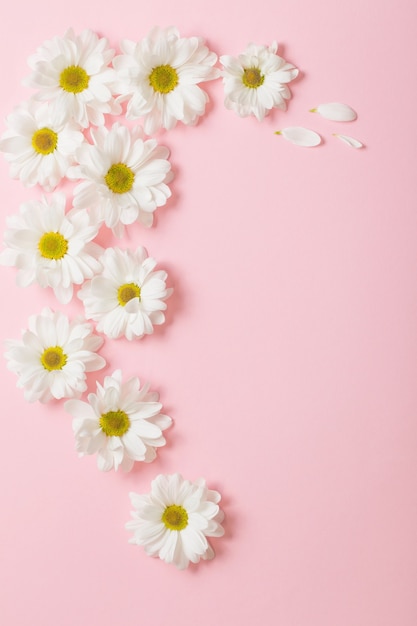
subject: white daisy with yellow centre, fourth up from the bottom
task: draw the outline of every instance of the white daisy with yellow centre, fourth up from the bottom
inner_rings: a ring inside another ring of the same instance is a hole
[[[103,270],[78,292],[85,315],[97,322],[97,330],[111,339],[139,339],[163,324],[167,273],[153,271],[156,261],[139,246],[136,251],[108,248],[100,257]]]

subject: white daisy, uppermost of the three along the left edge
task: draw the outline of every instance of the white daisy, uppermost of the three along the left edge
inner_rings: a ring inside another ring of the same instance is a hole
[[[20,104],[6,118],[9,129],[0,139],[0,150],[10,162],[10,176],[26,187],[39,183],[52,191],[74,163],[75,151],[84,135],[73,123],[66,123],[59,111],[47,103]]]

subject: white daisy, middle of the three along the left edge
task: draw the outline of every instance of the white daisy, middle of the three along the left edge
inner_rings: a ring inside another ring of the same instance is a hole
[[[90,223],[86,210],[65,214],[65,202],[65,195],[56,193],[49,201],[22,204],[19,215],[7,218],[6,249],[0,255],[1,264],[17,267],[20,287],[35,282],[52,287],[63,304],[71,300],[73,285],[101,270],[97,259],[103,253],[92,242],[99,225]]]

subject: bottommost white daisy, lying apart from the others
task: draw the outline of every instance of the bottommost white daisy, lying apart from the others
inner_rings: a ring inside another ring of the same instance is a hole
[[[150,494],[131,493],[130,499],[135,510],[126,524],[133,531],[129,543],[144,546],[148,555],[178,569],[214,557],[207,537],[224,535],[224,515],[220,494],[208,489],[204,479],[192,483],[180,474],[160,474]]]

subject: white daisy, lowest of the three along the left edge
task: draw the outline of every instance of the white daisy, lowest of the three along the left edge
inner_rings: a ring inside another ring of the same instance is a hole
[[[79,397],[86,390],[86,372],[103,368],[96,352],[103,339],[81,318],[69,320],[60,311],[44,309],[29,318],[21,341],[6,342],[9,370],[29,402]]]

